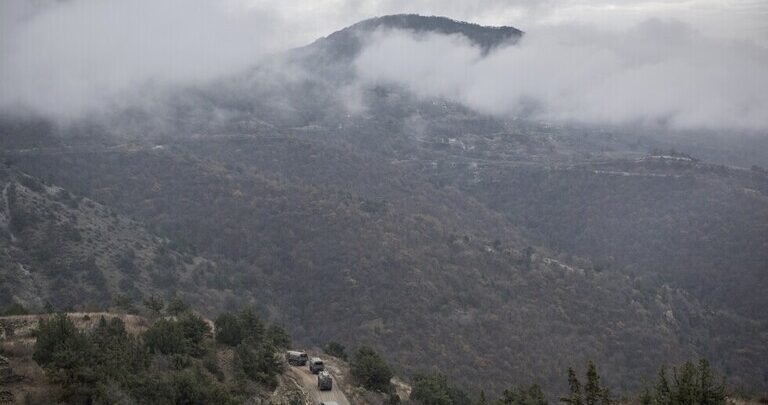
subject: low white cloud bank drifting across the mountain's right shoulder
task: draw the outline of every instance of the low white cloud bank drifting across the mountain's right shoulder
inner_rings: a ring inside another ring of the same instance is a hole
[[[623,32],[528,32],[483,56],[461,35],[379,32],[356,60],[366,84],[504,116],[673,128],[768,129],[768,50],[709,39],[678,22]]]

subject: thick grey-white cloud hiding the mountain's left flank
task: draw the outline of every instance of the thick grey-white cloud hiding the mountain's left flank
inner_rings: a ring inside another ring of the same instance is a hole
[[[0,108],[59,119],[236,73],[290,36],[235,0],[3,0],[0,12]]]

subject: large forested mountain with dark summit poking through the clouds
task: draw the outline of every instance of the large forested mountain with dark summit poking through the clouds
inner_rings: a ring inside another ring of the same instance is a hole
[[[299,344],[366,343],[404,375],[440,370],[496,392],[538,381],[556,397],[588,359],[631,392],[697,356],[733,384],[768,387],[764,173],[403,88],[363,88],[350,111],[340,89],[380,27],[465,35],[488,52],[521,35],[366,20],[152,110],[31,145],[4,135],[6,212],[32,219],[7,221],[2,296],[179,295],[211,316],[253,305]],[[37,132],[14,125],[0,128]]]

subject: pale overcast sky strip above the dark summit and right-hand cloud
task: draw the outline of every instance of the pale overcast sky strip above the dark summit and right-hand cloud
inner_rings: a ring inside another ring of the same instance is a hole
[[[719,38],[768,45],[766,0],[239,0],[246,7],[272,8],[297,27],[292,41],[306,42],[376,15],[442,15],[484,25],[584,24],[622,29],[649,18],[676,19]],[[299,28],[299,26],[301,28]]]

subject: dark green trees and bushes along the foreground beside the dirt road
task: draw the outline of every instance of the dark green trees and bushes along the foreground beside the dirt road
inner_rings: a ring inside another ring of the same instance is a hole
[[[159,310],[162,305],[146,303]],[[290,334],[279,324],[266,324],[252,309],[225,312],[208,322],[180,302],[171,316],[158,317],[145,331],[132,334],[120,317],[101,317],[91,330],[80,330],[70,316],[53,314],[39,321],[33,359],[59,387],[66,403],[235,404],[259,390],[274,390],[284,365],[280,352],[291,346]],[[231,379],[224,377],[217,348],[232,350]],[[435,372],[411,379],[409,398],[400,398],[392,385],[394,373],[383,356],[369,346],[351,356],[338,342],[329,342],[328,355],[348,360],[355,384],[385,394],[388,404],[423,405],[547,405],[538,384],[517,385],[495,399],[484,391],[470,395],[460,384]],[[559,399],[566,405],[611,405],[617,402],[594,362],[584,378],[568,368],[569,391]],[[671,370],[662,367],[656,382],[636,398],[641,405],[724,405],[727,388],[706,360],[687,362]]]

